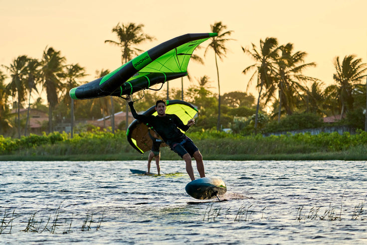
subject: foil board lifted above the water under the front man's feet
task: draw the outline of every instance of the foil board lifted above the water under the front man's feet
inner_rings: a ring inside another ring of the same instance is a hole
[[[186,193],[199,200],[218,198],[227,191],[227,187],[221,179],[200,178],[189,182],[185,187]],[[220,200],[218,198],[218,200]]]

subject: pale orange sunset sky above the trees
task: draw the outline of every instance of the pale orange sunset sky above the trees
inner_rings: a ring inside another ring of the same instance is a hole
[[[356,54],[367,62],[366,0],[0,0],[0,65],[23,54],[40,59],[48,46],[60,50],[68,64],[85,67],[90,74],[85,80],[91,81],[96,70],[121,66],[120,49],[104,43],[118,40],[111,30],[119,22],[144,24],[144,32],[156,37],[139,46],[148,50],[185,33],[210,32],[210,24],[217,21],[233,30],[230,37],[235,39],[227,43],[229,52],[218,63],[221,94],[245,91],[249,76],[242,70],[254,61],[241,46],[259,46],[266,37],[307,52],[306,62],[316,62],[317,67],[304,74],[326,85],[333,83],[336,56]],[[203,49],[194,53],[203,57]],[[211,50],[204,62],[191,62],[188,72],[197,79],[209,76],[217,92]],[[180,81],[170,82],[170,87],[179,88]],[[249,92],[257,96],[254,86]]]

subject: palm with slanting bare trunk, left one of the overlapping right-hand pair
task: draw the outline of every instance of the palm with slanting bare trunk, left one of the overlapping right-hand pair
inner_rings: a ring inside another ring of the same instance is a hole
[[[260,39],[259,50],[257,50],[256,45],[253,43],[251,50],[243,47],[242,50],[244,53],[247,53],[250,56],[252,56],[252,58],[256,61],[256,63],[246,67],[242,71],[243,74],[247,74],[247,72],[255,68],[255,71],[251,75],[250,80],[247,84],[246,91],[251,81],[256,77],[257,78],[256,87],[259,89],[259,96],[257,98],[257,104],[256,104],[255,125],[254,125],[256,132],[262,89],[264,87],[270,88],[274,80],[272,77],[272,73],[275,65],[274,60],[276,60],[278,57],[278,51],[279,51],[278,40],[274,37],[267,37],[265,38],[265,41]]]

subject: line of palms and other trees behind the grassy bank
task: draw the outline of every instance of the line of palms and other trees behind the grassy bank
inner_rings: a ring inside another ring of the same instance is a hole
[[[138,48],[139,44],[155,39],[144,33],[143,27],[143,24],[118,23],[112,29],[118,41],[105,40],[105,43],[121,49],[122,64],[143,52]],[[254,60],[242,73],[250,74],[247,87],[255,83],[257,98],[248,94],[247,90],[221,94],[218,60],[225,62],[227,43],[233,40],[229,37],[234,31],[227,30],[222,22],[210,25],[210,31],[218,35],[209,39],[204,57],[208,51],[214,52],[218,93],[210,91],[213,81],[208,75],[203,74],[192,81],[188,74],[192,82],[185,90],[181,80],[181,89],[170,89],[167,82],[166,92],[146,90],[137,93],[137,97],[142,98],[137,102],[137,108],[146,110],[155,104],[155,100],[163,97],[183,99],[198,107],[197,129],[215,128],[219,131],[230,127],[247,133],[259,132],[272,121],[281,124],[282,118],[293,114],[309,113],[318,117],[341,115],[343,118],[348,113],[359,115],[366,108],[366,84],[363,82],[367,77],[367,64],[361,58],[354,54],[345,56],[343,60],[336,57],[333,63],[335,83],[325,87],[318,78],[304,75],[306,69],[316,66],[315,62],[305,62],[307,53],[294,50],[293,43],[279,44],[275,37],[260,39],[259,45],[251,43],[251,48],[242,47],[244,55]],[[193,55],[191,59],[204,63],[203,57],[198,55]],[[97,70],[95,76],[99,78],[109,72],[108,69]],[[29,116],[21,120],[21,108],[27,108],[28,115],[30,108],[47,112],[49,120],[45,130],[48,132],[52,132],[55,122],[73,122],[74,118],[76,121],[105,118],[124,109],[128,111],[125,101],[112,96],[74,102],[68,92],[85,83],[83,79],[87,75],[85,67],[78,63],[68,64],[61,51],[53,47],[46,47],[40,60],[20,55],[9,65],[1,65],[0,134],[19,138],[23,133],[27,134]],[[10,82],[5,83],[7,78]],[[38,96],[33,103],[32,94]],[[42,97],[44,94],[46,98]],[[15,117],[10,113],[11,109],[16,109]],[[115,126],[125,130],[128,118],[124,125],[112,125],[112,131]]]

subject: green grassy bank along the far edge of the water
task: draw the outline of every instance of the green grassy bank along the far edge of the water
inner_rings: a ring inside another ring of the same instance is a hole
[[[367,160],[367,133],[297,134],[262,137],[223,132],[193,132],[204,160]],[[180,160],[168,147],[162,160]],[[53,133],[21,139],[0,136],[0,161],[146,160],[126,140],[125,132]]]

